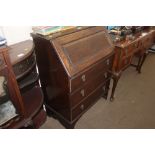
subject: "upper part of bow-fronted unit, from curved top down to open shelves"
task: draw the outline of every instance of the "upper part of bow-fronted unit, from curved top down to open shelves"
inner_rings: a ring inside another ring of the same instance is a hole
[[[9,56],[21,92],[39,85],[32,40],[26,40],[9,46]]]

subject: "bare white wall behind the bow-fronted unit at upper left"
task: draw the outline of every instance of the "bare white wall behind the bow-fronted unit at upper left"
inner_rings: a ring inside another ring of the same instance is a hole
[[[7,39],[7,44],[11,45],[27,39],[32,39],[30,33],[31,26],[1,26],[0,35]]]

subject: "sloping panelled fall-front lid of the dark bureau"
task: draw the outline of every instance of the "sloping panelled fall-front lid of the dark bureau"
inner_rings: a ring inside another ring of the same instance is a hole
[[[87,27],[51,41],[68,75],[74,76],[113,53],[113,43],[104,27]]]

